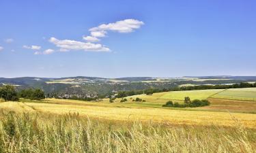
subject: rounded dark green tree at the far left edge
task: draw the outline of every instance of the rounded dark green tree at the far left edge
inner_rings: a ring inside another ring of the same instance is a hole
[[[18,95],[14,86],[3,86],[0,88],[0,97],[5,101],[18,101]]]

